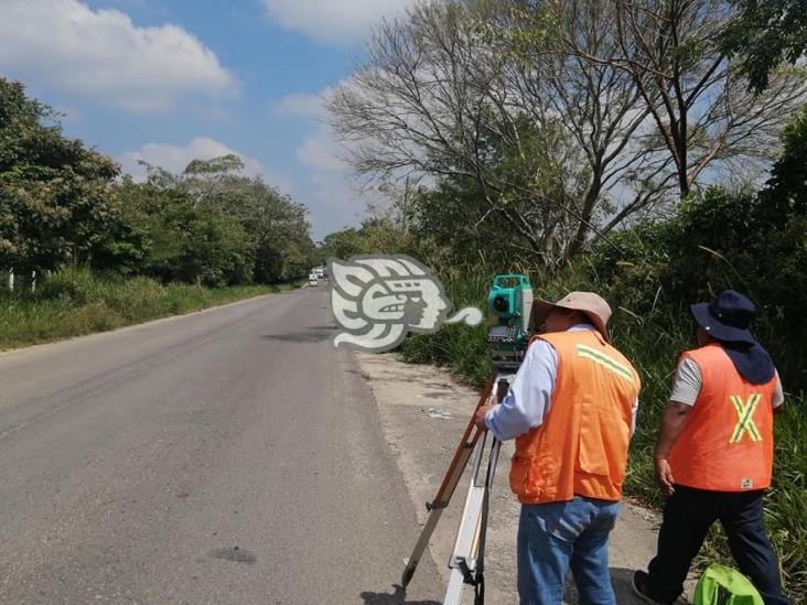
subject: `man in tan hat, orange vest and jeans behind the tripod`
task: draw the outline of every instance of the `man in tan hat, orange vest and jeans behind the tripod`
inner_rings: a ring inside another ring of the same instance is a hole
[[[580,602],[615,604],[607,542],[618,514],[639,379],[610,344],[611,307],[592,292],[536,301],[541,326],[499,406],[480,428],[516,439],[510,488],[521,503],[518,594],[557,605],[569,569]]]

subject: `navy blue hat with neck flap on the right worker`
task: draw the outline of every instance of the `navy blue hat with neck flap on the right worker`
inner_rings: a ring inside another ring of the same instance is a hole
[[[753,385],[764,385],[774,377],[771,355],[751,334],[749,326],[756,307],[746,296],[725,290],[709,303],[690,306],[695,321],[709,336],[719,341],[740,375]]]

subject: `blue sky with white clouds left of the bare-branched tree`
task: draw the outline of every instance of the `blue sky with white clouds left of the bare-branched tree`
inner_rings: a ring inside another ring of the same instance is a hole
[[[316,239],[366,199],[323,122],[321,95],[411,0],[2,0],[0,74],[62,111],[66,134],[141,177],[241,155],[310,209]]]

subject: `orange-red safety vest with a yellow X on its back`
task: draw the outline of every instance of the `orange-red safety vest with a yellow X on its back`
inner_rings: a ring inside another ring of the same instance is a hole
[[[715,491],[771,487],[776,376],[752,385],[718,343],[689,350],[700,368],[700,393],[670,452],[675,482]]]

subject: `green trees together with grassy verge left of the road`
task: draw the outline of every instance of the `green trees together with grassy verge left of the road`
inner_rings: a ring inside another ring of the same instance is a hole
[[[136,182],[57,118],[0,78],[0,348],[279,291],[319,259],[305,207],[239,158]]]

